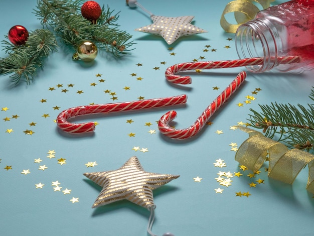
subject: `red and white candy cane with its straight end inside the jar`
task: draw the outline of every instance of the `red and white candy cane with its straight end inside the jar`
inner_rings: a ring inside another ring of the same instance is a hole
[[[278,62],[280,64],[289,64],[299,62],[299,57],[279,57]],[[204,61],[204,62],[187,62],[180,63],[169,67],[166,72],[166,79],[169,82],[177,84],[190,84],[192,79],[190,76],[176,75],[180,71],[187,70],[197,70],[197,69],[217,69],[217,68],[232,68],[241,66],[252,66],[252,65],[262,65],[264,63],[264,58],[246,58],[238,60],[228,60],[228,61]]]

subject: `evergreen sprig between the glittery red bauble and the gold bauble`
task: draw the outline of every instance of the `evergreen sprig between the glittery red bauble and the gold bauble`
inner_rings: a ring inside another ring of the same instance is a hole
[[[111,52],[114,56],[129,53],[134,44],[125,31],[116,24],[119,16],[109,7],[102,7],[96,24],[86,20],[81,14],[85,0],[38,0],[34,13],[46,28],[52,28],[62,41],[76,50],[81,40],[89,40],[100,50]]]

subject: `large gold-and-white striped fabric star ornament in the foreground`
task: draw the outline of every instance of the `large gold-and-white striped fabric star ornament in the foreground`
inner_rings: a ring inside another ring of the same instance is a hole
[[[179,175],[146,172],[135,156],[117,170],[84,173],[84,175],[103,187],[92,208],[126,199],[150,209],[155,207],[152,190],[179,177]]]

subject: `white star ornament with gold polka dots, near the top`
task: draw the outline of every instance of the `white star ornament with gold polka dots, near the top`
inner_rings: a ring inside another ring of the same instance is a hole
[[[162,36],[170,45],[182,36],[207,33],[207,31],[191,24],[194,16],[163,17],[152,15],[153,23],[135,31]]]

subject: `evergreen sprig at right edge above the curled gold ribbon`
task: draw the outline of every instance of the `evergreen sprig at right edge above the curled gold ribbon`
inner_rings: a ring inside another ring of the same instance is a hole
[[[314,100],[314,90],[309,95]],[[261,112],[252,111],[251,126],[263,129],[265,136],[282,141],[290,148],[314,152],[314,105],[297,104],[259,105]]]

